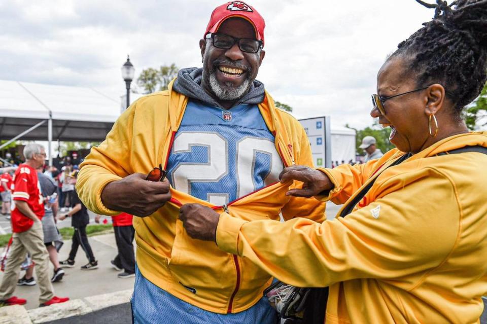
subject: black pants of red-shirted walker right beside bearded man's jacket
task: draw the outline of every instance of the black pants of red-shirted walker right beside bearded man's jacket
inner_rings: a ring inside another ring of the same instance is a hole
[[[118,248],[118,254],[113,262],[126,272],[135,273],[135,256],[132,245],[135,230],[133,226],[114,226],[113,230]]]

